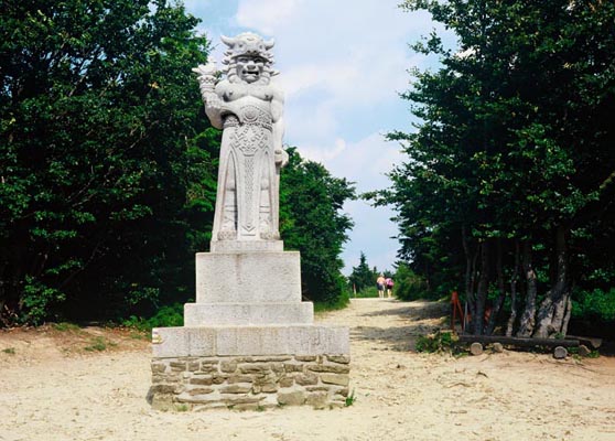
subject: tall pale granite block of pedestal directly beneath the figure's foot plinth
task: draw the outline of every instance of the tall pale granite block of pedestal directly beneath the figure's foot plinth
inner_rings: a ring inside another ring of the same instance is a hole
[[[196,303],[300,301],[298,251],[196,255]]]

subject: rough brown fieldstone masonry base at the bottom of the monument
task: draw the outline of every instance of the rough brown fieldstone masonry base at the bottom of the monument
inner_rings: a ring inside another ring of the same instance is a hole
[[[343,407],[348,355],[154,357],[149,399],[161,410]]]

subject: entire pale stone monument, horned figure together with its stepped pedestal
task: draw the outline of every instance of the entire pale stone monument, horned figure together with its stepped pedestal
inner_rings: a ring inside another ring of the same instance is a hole
[[[270,84],[273,41],[242,33],[223,42],[226,77],[214,63],[194,69],[207,116],[224,130],[212,247],[195,256],[195,302],[184,304],[183,326],[152,330],[148,396],[158,409],[343,407],[348,327],[314,324],[300,252],[280,240],[288,154],[282,94]]]

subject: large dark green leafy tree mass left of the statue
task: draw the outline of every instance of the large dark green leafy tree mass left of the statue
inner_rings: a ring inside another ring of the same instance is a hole
[[[207,229],[191,223],[207,222],[215,182],[191,76],[207,53],[197,20],[165,0],[0,8],[3,320],[188,292],[190,240]]]

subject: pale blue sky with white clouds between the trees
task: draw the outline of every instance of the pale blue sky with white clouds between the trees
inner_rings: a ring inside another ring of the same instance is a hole
[[[412,131],[408,69],[429,61],[408,44],[435,26],[424,12],[408,13],[400,0],[185,0],[202,20],[199,32],[223,60],[220,35],[256,32],[273,37],[276,82],[285,93],[284,143],[322,163],[334,176],[354,182],[358,193],[389,186],[386,176],[403,161],[400,146],[385,140],[392,130]],[[344,209],[355,227],[342,258],[344,273],[359,262],[393,269],[399,244],[388,207],[364,201]]]

